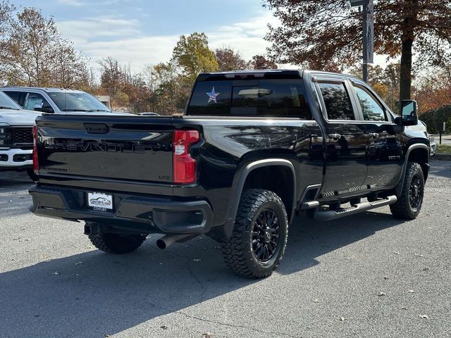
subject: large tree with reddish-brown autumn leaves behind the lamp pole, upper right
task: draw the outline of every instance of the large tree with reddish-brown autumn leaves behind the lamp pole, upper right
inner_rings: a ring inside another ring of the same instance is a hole
[[[362,58],[362,13],[349,0],[265,0],[279,27],[266,35],[280,63],[327,69],[354,65]],[[379,0],[374,8],[375,51],[401,56],[400,99],[409,99],[412,55],[419,67],[438,67],[451,58],[451,2]]]

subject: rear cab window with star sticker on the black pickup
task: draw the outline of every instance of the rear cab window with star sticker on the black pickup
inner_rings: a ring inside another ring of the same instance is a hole
[[[301,79],[199,81],[187,115],[312,118]]]

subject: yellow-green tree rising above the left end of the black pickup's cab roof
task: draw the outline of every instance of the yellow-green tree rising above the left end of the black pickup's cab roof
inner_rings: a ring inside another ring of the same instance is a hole
[[[218,70],[218,61],[209,49],[208,38],[204,33],[180,36],[173,49],[172,61],[181,68],[183,80],[190,85],[199,73]]]

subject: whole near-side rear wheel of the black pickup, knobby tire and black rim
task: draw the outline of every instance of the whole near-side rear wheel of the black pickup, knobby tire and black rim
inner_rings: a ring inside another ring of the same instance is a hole
[[[253,278],[267,277],[278,267],[288,239],[288,217],[280,197],[269,190],[242,193],[232,236],[223,242],[230,270]]]

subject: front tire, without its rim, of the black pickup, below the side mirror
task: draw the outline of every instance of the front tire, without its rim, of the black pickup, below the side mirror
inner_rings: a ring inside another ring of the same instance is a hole
[[[410,202],[412,180],[418,178],[419,182],[419,205],[414,208]],[[390,211],[395,218],[401,220],[414,220],[421,211],[424,197],[424,175],[421,166],[415,162],[407,163],[406,173],[404,176],[404,184],[402,184],[402,192],[397,202],[390,204]]]

